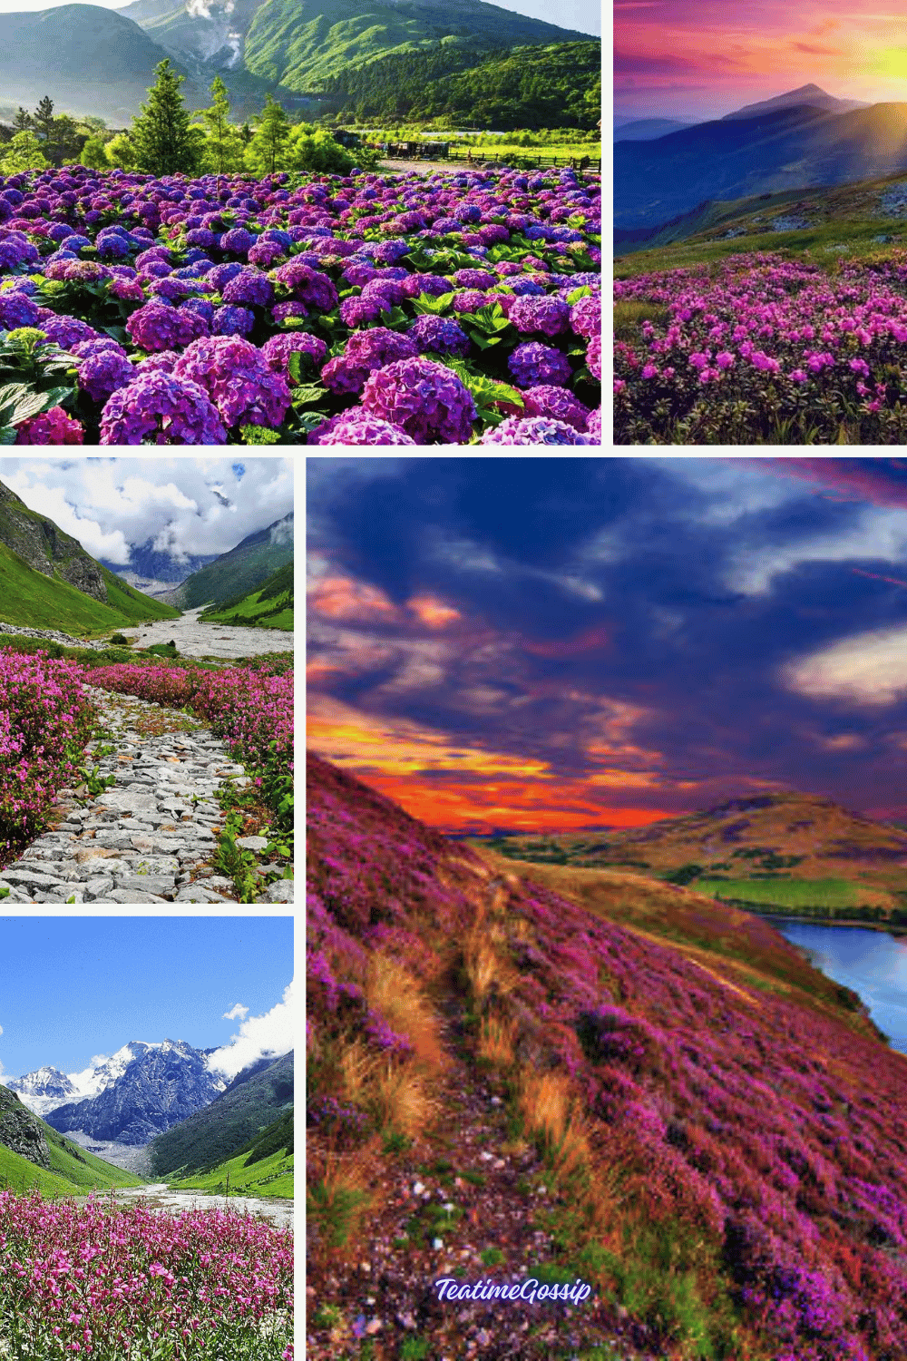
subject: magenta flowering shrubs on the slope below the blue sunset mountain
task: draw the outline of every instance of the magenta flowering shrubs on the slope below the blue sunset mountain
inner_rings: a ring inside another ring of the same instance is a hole
[[[615,284],[617,444],[904,444],[907,252]]]

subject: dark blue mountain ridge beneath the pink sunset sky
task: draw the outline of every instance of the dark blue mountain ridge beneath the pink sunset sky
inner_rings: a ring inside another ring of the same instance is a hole
[[[907,103],[843,108],[804,87],[649,142],[615,143],[615,226],[664,226],[708,200],[847,184],[907,167]],[[812,102],[817,101],[817,102]],[[753,112],[755,110],[755,112]],[[619,237],[620,240],[620,237]]]

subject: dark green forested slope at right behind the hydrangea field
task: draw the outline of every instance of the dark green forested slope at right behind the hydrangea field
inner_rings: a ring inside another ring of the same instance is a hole
[[[447,120],[451,127],[596,128],[601,45],[558,42],[499,52],[438,44],[324,79],[318,90],[359,124]]]

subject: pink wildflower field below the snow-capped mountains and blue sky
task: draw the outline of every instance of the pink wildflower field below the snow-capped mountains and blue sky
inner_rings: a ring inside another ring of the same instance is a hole
[[[0,1354],[10,1361],[291,1361],[292,1234],[0,1191]]]

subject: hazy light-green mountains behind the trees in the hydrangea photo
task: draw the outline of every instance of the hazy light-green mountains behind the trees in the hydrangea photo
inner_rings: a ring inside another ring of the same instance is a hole
[[[4,101],[50,95],[64,110],[128,122],[154,68],[170,57],[190,108],[220,73],[242,116],[272,91],[317,112],[317,82],[392,53],[438,42],[490,49],[587,38],[484,0],[133,0],[122,10],[65,4],[0,14]],[[307,94],[311,93],[311,97]]]

